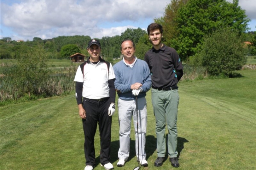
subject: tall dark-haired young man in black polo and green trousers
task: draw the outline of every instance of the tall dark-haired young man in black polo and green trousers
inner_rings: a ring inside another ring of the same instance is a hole
[[[177,114],[179,104],[178,81],[183,75],[183,66],[175,49],[161,40],[162,25],[152,23],[147,27],[153,48],[144,56],[152,79],[152,105],[156,117],[157,159],[155,166],[162,166],[165,157],[165,122],[168,129],[168,156],[173,167],[179,167],[177,152]]]

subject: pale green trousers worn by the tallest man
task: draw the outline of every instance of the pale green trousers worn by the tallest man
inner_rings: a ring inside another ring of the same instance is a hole
[[[177,115],[179,105],[179,92],[177,90],[151,89],[152,105],[156,118],[157,156],[165,157],[165,125],[168,129],[168,155],[170,158],[177,157]]]

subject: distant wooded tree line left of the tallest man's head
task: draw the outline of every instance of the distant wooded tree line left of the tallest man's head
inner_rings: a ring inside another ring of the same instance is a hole
[[[106,58],[117,58],[121,55],[121,41],[130,38],[134,43],[139,42],[139,38],[146,35],[146,31],[141,28],[126,29],[121,36],[102,37],[101,55]],[[19,51],[22,46],[42,47],[49,59],[68,59],[70,55],[82,53],[88,56],[87,44],[91,40],[90,36],[58,36],[47,40],[42,40],[40,37],[34,37],[33,41],[17,42],[12,41],[10,37],[4,37],[0,40],[0,59],[16,59],[16,51]]]

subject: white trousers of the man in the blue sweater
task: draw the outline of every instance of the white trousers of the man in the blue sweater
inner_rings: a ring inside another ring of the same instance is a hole
[[[138,130],[136,104],[134,100],[118,99],[118,119],[119,119],[119,141],[120,148],[118,158],[127,159],[130,153],[130,130],[133,117],[135,130],[135,150],[136,156],[140,160],[146,158],[145,143],[147,130],[147,102],[145,97],[138,98],[138,127],[139,127],[139,156],[138,156]]]

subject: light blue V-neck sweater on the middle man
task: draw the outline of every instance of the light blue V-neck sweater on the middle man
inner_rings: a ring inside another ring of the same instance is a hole
[[[138,98],[146,96],[146,92],[151,88],[152,81],[149,66],[144,60],[137,59],[132,68],[121,60],[113,68],[116,77],[115,89],[119,98],[123,100],[134,99],[135,96],[132,94],[131,89],[131,85],[134,83],[142,84],[142,91],[139,93]]]

